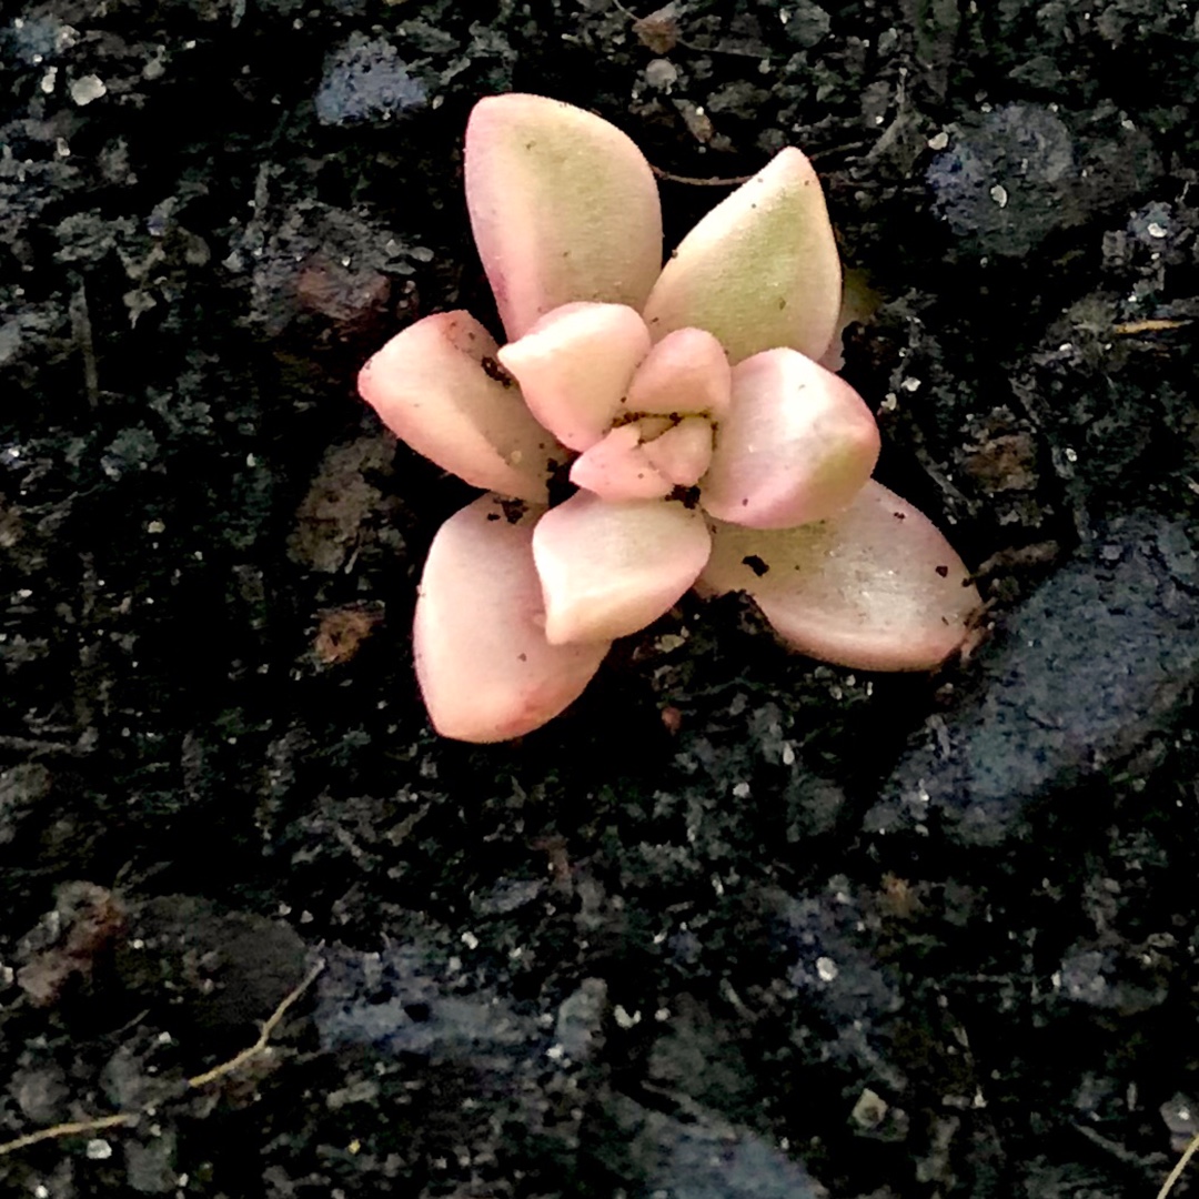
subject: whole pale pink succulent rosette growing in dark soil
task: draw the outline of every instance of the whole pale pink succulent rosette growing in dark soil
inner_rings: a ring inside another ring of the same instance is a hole
[[[874,417],[820,364],[842,277],[801,151],[664,266],[649,164],[582,109],[480,101],[465,182],[506,344],[438,313],[359,378],[399,438],[486,489],[441,526],[420,585],[416,673],[439,733],[538,728],[691,586],[748,592],[788,644],[844,665],[929,669],[962,644],[978,603],[965,567],[870,480]],[[574,490],[552,504],[564,476]]]

